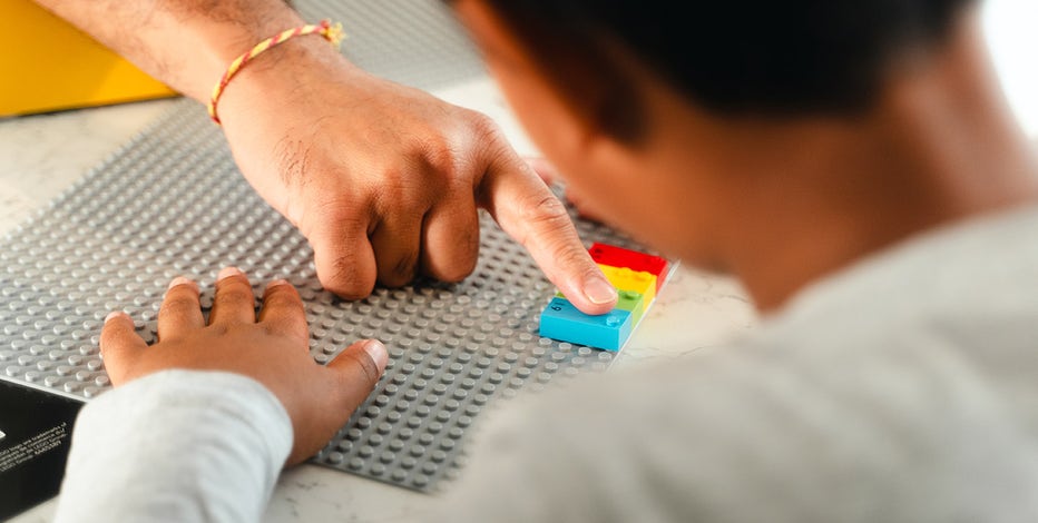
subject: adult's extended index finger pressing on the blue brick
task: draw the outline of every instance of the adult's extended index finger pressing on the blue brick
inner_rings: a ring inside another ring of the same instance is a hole
[[[498,158],[481,181],[481,205],[578,309],[611,310],[616,288],[580,243],[566,207],[518,155],[509,151]]]

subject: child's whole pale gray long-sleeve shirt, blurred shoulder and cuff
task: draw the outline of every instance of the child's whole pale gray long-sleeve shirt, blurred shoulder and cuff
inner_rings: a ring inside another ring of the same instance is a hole
[[[445,521],[1038,521],[1038,209],[911,238],[732,346],[488,423]],[[239,376],[106,393],[80,414],[59,520],[255,521],[288,427]]]

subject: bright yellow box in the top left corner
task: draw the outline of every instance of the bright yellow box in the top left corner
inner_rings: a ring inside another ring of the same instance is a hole
[[[176,95],[31,0],[0,13],[0,117]]]

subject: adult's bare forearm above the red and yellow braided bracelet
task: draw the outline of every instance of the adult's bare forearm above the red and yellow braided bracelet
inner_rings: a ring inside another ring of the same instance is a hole
[[[283,0],[37,2],[199,101],[208,99],[231,60],[261,40],[303,23]]]

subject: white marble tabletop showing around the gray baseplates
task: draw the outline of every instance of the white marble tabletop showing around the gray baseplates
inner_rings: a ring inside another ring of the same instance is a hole
[[[488,112],[505,127],[520,152],[536,152],[489,81],[437,95]],[[0,235],[68,188],[148,122],[170,100],[156,100],[55,115],[0,119]],[[734,282],[679,269],[633,335],[617,365],[675,357],[724,342],[752,328],[753,307]],[[265,521],[418,521],[433,497],[344,472],[301,465],[281,477]],[[51,500],[22,513],[18,523],[49,521]]]

